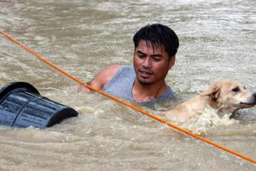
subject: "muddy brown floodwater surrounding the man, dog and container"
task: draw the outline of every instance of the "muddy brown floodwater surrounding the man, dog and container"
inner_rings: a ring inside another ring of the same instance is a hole
[[[180,38],[166,82],[176,99],[162,111],[232,79],[256,92],[255,0],[24,1],[0,0],[0,29],[84,82],[112,64],[132,65],[132,36],[146,24]],[[50,128],[0,126],[0,170],[256,170],[240,158],[100,93],[78,93],[73,79],[0,35],[0,86],[26,81],[79,116]],[[135,104],[134,104],[135,105]],[[173,122],[256,160],[256,108],[236,120],[212,111]]]

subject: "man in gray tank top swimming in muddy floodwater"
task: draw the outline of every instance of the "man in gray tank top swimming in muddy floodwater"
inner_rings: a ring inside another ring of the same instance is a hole
[[[166,85],[179,41],[175,32],[162,24],[142,27],[133,37],[133,67],[111,65],[87,83],[115,97],[122,97],[154,108],[157,101],[170,101],[174,92]],[[83,87],[80,92],[90,92]]]

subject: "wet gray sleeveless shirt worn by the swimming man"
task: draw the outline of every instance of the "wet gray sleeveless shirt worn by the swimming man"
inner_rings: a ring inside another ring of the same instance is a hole
[[[135,78],[136,74],[134,71],[134,67],[122,65],[122,67],[118,69],[115,76],[113,76],[113,78],[110,80],[108,85],[104,86],[102,91],[115,97],[121,97],[132,101],[136,101],[132,97],[132,86],[134,85]],[[148,100],[145,102],[136,102],[155,108],[155,102],[171,101],[173,100],[173,98],[174,92],[173,90],[171,90],[171,88],[169,88],[164,94],[160,95],[159,97],[153,100]]]

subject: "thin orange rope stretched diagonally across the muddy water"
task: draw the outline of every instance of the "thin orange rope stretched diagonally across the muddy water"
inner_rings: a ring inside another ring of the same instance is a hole
[[[127,102],[124,102],[116,97],[113,97],[107,93],[104,93],[102,92],[101,90],[97,90],[96,88],[90,86],[90,85],[87,85],[86,83],[83,83],[83,81],[80,81],[79,79],[73,77],[71,74],[68,74],[68,72],[65,72],[63,71],[62,69],[60,69],[59,67],[57,67],[56,65],[53,65],[52,63],[48,62],[48,60],[45,60],[45,58],[41,57],[40,55],[38,55],[38,53],[35,53],[34,51],[30,50],[29,48],[27,48],[26,46],[24,46],[23,44],[19,43],[18,41],[16,41],[15,39],[11,38],[10,36],[8,36],[8,34],[5,34],[3,31],[1,31],[1,34],[3,34],[4,36],[6,36],[8,39],[10,39],[11,41],[17,43],[19,46],[22,46],[22,48],[24,48],[25,50],[31,52],[33,55],[36,55],[36,57],[38,57],[39,59],[43,60],[43,62],[45,62],[46,64],[49,64],[51,65],[52,67],[54,67],[55,69],[57,69],[58,71],[62,72],[63,74],[66,74],[66,76],[69,76],[69,78],[75,80],[76,82],[80,83],[81,85],[84,85],[86,86],[87,88],[90,88],[90,90],[94,90],[95,92],[98,92],[98,93],[101,93],[102,95],[105,95],[106,97],[109,97],[110,99],[113,99],[117,102],[120,102],[121,104],[124,104],[125,106],[128,106],[128,107],[131,107],[132,109],[136,110],[136,111],[139,111],[140,113],[143,113],[143,114],[146,114],[147,116],[150,116],[151,118],[157,120],[157,121],[160,121],[162,123],[165,123],[166,125],[168,125],[169,127],[173,127],[175,128],[176,130],[180,130],[181,132],[183,133],[187,133],[188,135],[192,136],[192,137],[195,137],[196,139],[199,139],[199,140],[203,140],[204,142],[207,142],[208,144],[211,144],[215,147],[218,147],[224,151],[227,151],[231,154],[234,154],[236,156],[239,156],[245,160],[248,160],[248,161],[251,161],[252,163],[255,163],[256,164],[256,160],[253,160],[252,158],[248,158],[247,156],[244,156],[242,154],[239,154],[239,153],[236,153],[235,151],[232,151],[231,149],[227,149],[226,147],[222,147],[218,144],[216,144],[215,142],[211,142],[210,140],[207,140],[207,139],[204,139],[203,137],[200,137],[199,135],[196,135],[194,133],[191,133],[191,132],[188,132],[187,130],[184,130],[183,128],[180,128],[180,127],[177,127],[165,120],[162,120],[160,118],[158,118],[157,116],[154,116],[153,114],[150,114],[150,113],[147,113],[141,109],[139,109],[138,107],[135,107],[135,106],[132,106],[131,104],[128,104]]]

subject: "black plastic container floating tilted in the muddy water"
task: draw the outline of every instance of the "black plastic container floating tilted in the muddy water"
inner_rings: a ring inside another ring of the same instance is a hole
[[[46,128],[77,115],[75,109],[41,96],[26,82],[9,83],[0,90],[1,125]]]

